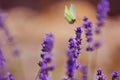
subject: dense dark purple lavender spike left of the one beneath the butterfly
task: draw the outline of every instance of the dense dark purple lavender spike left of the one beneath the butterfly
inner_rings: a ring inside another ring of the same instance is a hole
[[[68,51],[67,51],[67,79],[73,80],[75,76],[75,70],[76,70],[76,56],[77,53],[77,44],[76,40],[74,38],[69,39],[68,43]]]

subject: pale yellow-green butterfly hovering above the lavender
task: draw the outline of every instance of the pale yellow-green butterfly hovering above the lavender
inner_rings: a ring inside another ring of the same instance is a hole
[[[73,4],[71,4],[70,9],[65,5],[64,16],[69,24],[76,21],[76,8]]]

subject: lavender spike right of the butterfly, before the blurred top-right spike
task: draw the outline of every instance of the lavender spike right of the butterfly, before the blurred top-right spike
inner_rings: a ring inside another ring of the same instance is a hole
[[[86,41],[88,43],[88,46],[86,48],[87,51],[93,51],[94,50],[94,46],[93,46],[93,33],[92,33],[92,22],[88,21],[87,17],[84,17],[83,19],[84,24],[83,27],[85,29],[85,36],[86,36]]]

